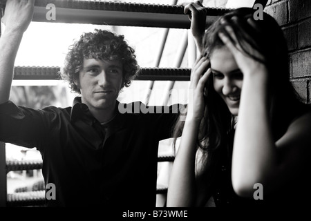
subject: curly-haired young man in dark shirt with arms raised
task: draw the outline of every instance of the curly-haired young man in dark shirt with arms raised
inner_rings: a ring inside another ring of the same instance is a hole
[[[158,141],[170,137],[178,106],[162,114],[120,113],[117,96],[139,70],[123,36],[95,30],[70,48],[62,77],[81,94],[72,107],[33,110],[9,101],[15,57],[34,2],[6,4],[0,140],[40,151],[44,180],[56,193],[46,206],[156,206]]]

